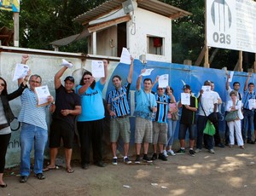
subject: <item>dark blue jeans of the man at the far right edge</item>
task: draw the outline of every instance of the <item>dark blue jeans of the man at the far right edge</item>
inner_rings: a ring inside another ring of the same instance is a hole
[[[244,141],[246,141],[246,139],[247,141],[252,140],[252,132],[254,131],[253,118],[254,112],[252,110],[243,109],[243,123],[241,135]]]

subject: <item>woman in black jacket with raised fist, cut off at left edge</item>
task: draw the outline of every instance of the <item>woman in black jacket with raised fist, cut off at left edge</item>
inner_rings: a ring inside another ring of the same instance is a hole
[[[28,72],[26,78],[28,78],[29,75],[30,72]],[[7,83],[0,77],[0,187],[7,187],[7,184],[3,182],[3,170],[5,165],[5,155],[11,137],[10,123],[15,118],[15,115],[9,107],[9,101],[14,100],[22,94],[23,90],[27,87],[26,81],[27,80],[24,80],[23,83],[20,84],[19,89],[8,94]]]

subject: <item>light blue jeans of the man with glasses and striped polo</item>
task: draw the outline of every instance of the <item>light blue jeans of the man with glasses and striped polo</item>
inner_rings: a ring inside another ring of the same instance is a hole
[[[44,148],[48,139],[48,131],[32,124],[21,124],[20,132],[20,176],[30,174],[30,153],[34,146],[34,168],[35,174],[43,173]]]

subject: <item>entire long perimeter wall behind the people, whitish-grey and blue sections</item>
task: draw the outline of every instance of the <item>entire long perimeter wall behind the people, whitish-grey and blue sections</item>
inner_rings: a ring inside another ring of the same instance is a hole
[[[110,61],[108,66],[108,80],[103,89],[103,98],[107,98],[108,91],[113,89],[113,84],[111,82],[111,78],[113,75],[118,74],[121,78],[123,78],[123,82],[125,83],[125,78],[127,78],[129,72],[129,66],[125,64],[119,63],[119,58],[111,57],[107,58],[106,56],[96,56],[96,55],[83,55],[83,54],[67,54],[61,52],[52,52],[52,51],[42,51],[42,50],[32,50],[32,49],[15,49],[11,47],[0,47],[0,76],[5,78],[8,83],[9,92],[17,89],[17,83],[12,81],[15,64],[20,62],[20,58],[22,54],[30,54],[31,59],[27,62],[27,65],[30,66],[32,73],[37,73],[42,76],[43,84],[47,84],[49,86],[49,90],[51,95],[55,96],[54,89],[54,76],[55,72],[60,69],[61,59],[65,58],[67,61],[73,62],[73,69],[68,69],[65,75],[62,77],[62,80],[67,77],[67,75],[73,75],[76,80],[76,84],[79,84],[79,80],[81,78],[81,74],[84,69],[90,70],[90,62],[96,59],[108,59]],[[131,93],[130,93],[130,105],[131,105],[131,150],[130,154],[134,154],[135,148],[134,145],[134,130],[135,130],[135,117],[133,115],[134,109],[136,107],[136,81],[137,77],[140,74],[143,68],[154,68],[154,71],[148,78],[151,78],[153,81],[157,76],[162,74],[169,74],[169,84],[174,89],[174,95],[176,100],[180,100],[180,93],[182,92],[183,81],[186,84],[191,86],[192,92],[197,95],[200,91],[202,84],[206,80],[212,80],[215,83],[215,90],[218,92],[223,101],[226,99],[226,90],[224,89],[224,84],[226,81],[225,71],[224,70],[216,70],[209,69],[199,66],[185,66],[172,64],[170,62],[160,62],[160,61],[148,61],[147,64],[142,64],[141,61],[137,59],[134,61],[134,73],[132,77],[131,84]],[[247,73],[245,72],[235,72],[233,81],[238,81],[241,83],[241,93],[242,87],[247,78]],[[255,78],[255,74],[250,78],[249,82],[253,82]],[[232,85],[231,83],[231,85]],[[153,88],[156,91],[156,86]],[[20,99],[17,98],[15,101],[10,101],[10,105],[17,117],[20,112]],[[225,130],[225,121],[224,121],[224,103],[219,106],[219,111],[221,113],[220,118],[220,135],[224,138],[224,130]],[[108,112],[106,112],[105,118],[105,128],[103,130],[103,142],[104,142],[104,157],[110,159],[112,157],[110,151],[110,142],[109,142],[109,118]],[[50,123],[50,118],[48,117],[48,123]],[[11,127],[16,129],[18,126],[17,121],[15,120]],[[177,128],[175,130],[174,136],[174,145],[173,147],[176,149],[178,147],[177,134],[179,129],[179,123],[177,122]],[[6,156],[7,164],[6,166],[13,166],[20,163],[20,143],[19,143],[20,130],[13,131],[11,141],[9,142],[9,149]],[[188,135],[187,135],[188,136]],[[187,137],[188,138],[188,137]],[[122,141],[119,141],[119,152],[122,153]],[[149,151],[152,148],[150,147]],[[48,157],[48,149],[45,152],[46,157]],[[33,157],[33,155],[32,155]],[[63,156],[61,157],[63,160]],[[76,141],[75,147],[73,150],[73,159],[79,159],[79,144]]]

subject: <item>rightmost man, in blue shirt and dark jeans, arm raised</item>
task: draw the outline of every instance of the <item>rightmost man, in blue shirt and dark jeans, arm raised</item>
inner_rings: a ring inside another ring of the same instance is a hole
[[[255,109],[255,106],[250,106],[249,101],[255,100],[256,97],[255,97],[255,92],[253,91],[254,84],[253,83],[248,84],[251,76],[252,76],[252,73],[248,72],[247,80],[243,87],[243,97],[242,97],[244,118],[243,118],[241,135],[242,135],[243,141],[246,141],[246,139],[247,139],[248,144],[255,143],[252,140],[253,118],[254,118],[253,109]],[[248,126],[247,126],[247,124],[248,124]]]

